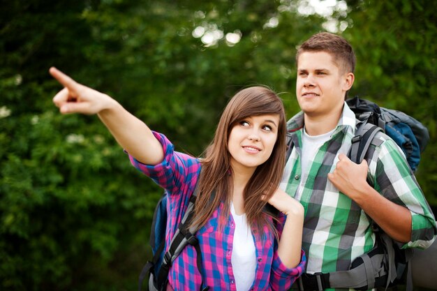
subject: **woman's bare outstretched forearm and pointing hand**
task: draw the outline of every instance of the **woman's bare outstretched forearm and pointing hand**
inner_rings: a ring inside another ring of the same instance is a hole
[[[75,82],[57,68],[50,68],[50,74],[64,85],[53,98],[62,114],[97,114],[115,140],[135,159],[147,165],[163,161],[163,148],[151,130],[116,100]]]

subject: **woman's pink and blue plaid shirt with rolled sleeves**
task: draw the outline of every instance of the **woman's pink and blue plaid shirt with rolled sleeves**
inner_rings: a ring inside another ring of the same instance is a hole
[[[165,158],[158,165],[144,165],[132,156],[131,163],[141,172],[151,177],[168,193],[168,221],[165,234],[165,248],[172,239],[172,234],[182,221],[188,207],[189,199],[194,191],[200,173],[200,162],[186,154],[174,151],[173,144],[162,134],[155,137],[163,145]],[[214,211],[206,225],[198,230],[196,237],[202,251],[202,267],[205,273],[205,284],[210,290],[235,290],[235,276],[232,271],[232,241],[234,239],[235,222],[232,214],[223,230],[218,231],[218,220],[223,214],[223,203]],[[280,216],[276,226],[279,234],[283,229],[285,217]],[[288,290],[296,278],[302,274],[305,266],[305,255],[302,251],[301,262],[295,268],[287,268],[276,251],[277,241],[274,234],[265,226],[262,234],[252,231],[255,242],[257,266],[255,280],[251,290]],[[196,264],[196,251],[193,246],[186,246],[173,262],[169,273],[169,283],[174,290],[199,290],[202,282]]]

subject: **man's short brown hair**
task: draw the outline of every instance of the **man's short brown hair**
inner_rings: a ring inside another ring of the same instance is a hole
[[[341,36],[329,32],[316,33],[306,40],[296,53],[296,65],[302,52],[327,52],[343,73],[355,70],[355,53],[348,41]]]

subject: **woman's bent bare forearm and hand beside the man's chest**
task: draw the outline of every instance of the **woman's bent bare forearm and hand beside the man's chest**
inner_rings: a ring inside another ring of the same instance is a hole
[[[286,267],[297,267],[301,260],[304,207],[281,189],[276,190],[269,204],[287,216],[279,239],[279,258]]]

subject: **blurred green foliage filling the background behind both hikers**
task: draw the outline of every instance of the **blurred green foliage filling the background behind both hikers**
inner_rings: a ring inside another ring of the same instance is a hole
[[[134,290],[161,189],[131,167],[97,117],[61,116],[57,66],[114,96],[200,155],[228,98],[245,86],[295,101],[296,46],[325,18],[296,0],[1,1],[0,289]],[[341,32],[355,47],[351,94],[422,121],[431,140],[417,179],[437,205],[436,6],[349,0]],[[279,24],[266,27],[276,17]],[[240,31],[205,47],[198,26]],[[214,26],[215,25],[215,26]]]

